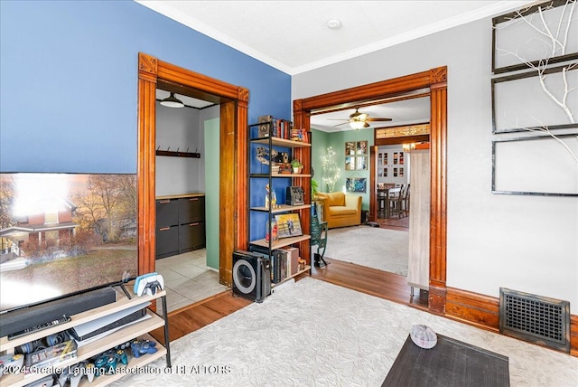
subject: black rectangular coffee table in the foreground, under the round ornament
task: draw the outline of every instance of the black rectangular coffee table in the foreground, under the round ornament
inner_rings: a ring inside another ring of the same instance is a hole
[[[437,335],[423,349],[408,335],[381,387],[508,387],[508,357]]]

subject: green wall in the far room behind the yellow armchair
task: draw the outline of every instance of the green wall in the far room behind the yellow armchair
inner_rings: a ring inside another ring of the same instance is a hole
[[[326,192],[327,189],[322,183],[323,156],[327,154],[327,148],[331,146],[335,151],[335,161],[340,165],[340,179],[335,184],[334,191],[345,192],[345,181],[348,177],[365,177],[367,178],[368,190],[366,193],[359,193],[362,196],[361,208],[369,209],[369,154],[368,169],[365,171],[346,171],[345,170],[345,142],[347,141],[368,141],[368,147],[373,146],[374,129],[346,130],[336,133],[327,133],[321,130],[312,129],[312,165],[315,169],[315,179],[319,182],[320,191]],[[369,149],[368,149],[369,152]]]

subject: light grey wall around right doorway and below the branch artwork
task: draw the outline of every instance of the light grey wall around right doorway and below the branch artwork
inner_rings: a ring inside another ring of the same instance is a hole
[[[491,20],[435,33],[293,77],[293,99],[448,67],[447,286],[512,288],[578,313],[578,199],[491,188]]]

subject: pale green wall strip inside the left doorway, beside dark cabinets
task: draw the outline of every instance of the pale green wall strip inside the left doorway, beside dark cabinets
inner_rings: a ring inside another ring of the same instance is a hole
[[[219,269],[219,118],[204,121],[207,266]]]

